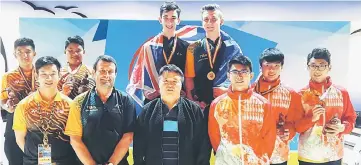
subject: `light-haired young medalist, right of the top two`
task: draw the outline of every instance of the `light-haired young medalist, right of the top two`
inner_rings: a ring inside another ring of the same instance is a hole
[[[223,13],[217,4],[202,7],[202,26],[206,37],[189,45],[186,59],[186,93],[196,101],[208,116],[214,98],[227,92],[224,83],[227,62],[241,53],[238,44],[221,31]]]

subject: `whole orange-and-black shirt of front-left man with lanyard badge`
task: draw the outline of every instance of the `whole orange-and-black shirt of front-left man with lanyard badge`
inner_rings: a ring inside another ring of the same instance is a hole
[[[72,100],[57,92],[51,102],[43,100],[39,91],[23,99],[15,109],[14,131],[27,132],[24,164],[38,164],[38,145],[43,144],[44,132],[51,144],[51,159],[57,164],[75,164],[76,155],[69,136],[64,134]]]

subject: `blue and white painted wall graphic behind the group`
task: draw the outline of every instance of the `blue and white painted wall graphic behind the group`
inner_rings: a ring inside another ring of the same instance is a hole
[[[200,21],[183,21],[185,25],[200,26]],[[102,54],[113,56],[118,62],[116,87],[125,91],[128,84],[129,65],[135,51],[148,38],[161,30],[156,20],[105,20],[21,18],[20,36],[34,39],[37,58],[45,55],[57,57],[66,65],[65,40],[79,35],[85,40],[84,63],[92,66]],[[222,30],[241,47],[244,55],[253,61],[255,75],[259,74],[258,56],[269,47],[277,47],[285,54],[282,80],[298,90],[308,83],[307,54],[315,47],[326,47],[332,53],[331,76],[336,84],[347,87],[356,109],[361,109],[361,99],[353,93],[356,86],[347,86],[344,73],[348,72],[350,22],[348,21],[226,21]],[[202,38],[204,33],[197,32]],[[255,80],[255,79],[254,79]],[[253,80],[253,81],[254,81]],[[297,139],[291,148],[297,148]]]

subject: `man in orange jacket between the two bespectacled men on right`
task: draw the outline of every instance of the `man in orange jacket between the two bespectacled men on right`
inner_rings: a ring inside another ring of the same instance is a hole
[[[253,84],[254,92],[265,97],[277,117],[277,139],[271,164],[287,165],[289,143],[295,135],[288,113],[302,110],[301,97],[281,82],[284,54],[277,48],[265,49],[259,57],[261,73]]]

